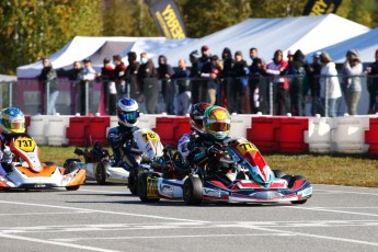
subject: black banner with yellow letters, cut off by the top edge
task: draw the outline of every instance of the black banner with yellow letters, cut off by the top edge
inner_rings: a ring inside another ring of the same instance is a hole
[[[321,15],[336,13],[342,0],[309,0],[305,5],[303,15]]]

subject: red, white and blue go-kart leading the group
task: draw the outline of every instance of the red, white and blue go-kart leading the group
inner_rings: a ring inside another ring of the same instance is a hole
[[[244,138],[227,142],[225,150],[216,149],[210,152],[217,160],[217,170],[197,167],[188,171],[188,168],[187,175],[179,180],[153,171],[141,173],[140,199],[183,199],[187,205],[198,205],[203,201],[303,204],[312,195],[308,180],[271,170],[257,148]],[[173,163],[176,167],[175,160]]]

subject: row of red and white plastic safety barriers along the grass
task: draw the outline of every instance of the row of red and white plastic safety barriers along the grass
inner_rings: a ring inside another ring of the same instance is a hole
[[[27,131],[38,145],[106,145],[116,116],[26,116]],[[176,147],[191,129],[187,116],[141,115],[139,127],[156,130],[163,145]],[[262,152],[378,153],[378,115],[342,117],[290,117],[232,115],[230,136],[245,137]]]

